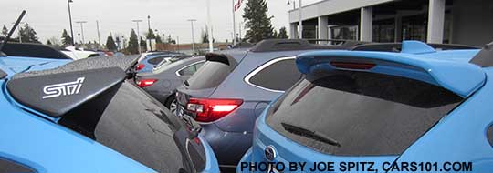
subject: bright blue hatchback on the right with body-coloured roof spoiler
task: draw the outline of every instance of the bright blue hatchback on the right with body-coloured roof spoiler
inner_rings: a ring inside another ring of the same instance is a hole
[[[491,172],[491,46],[301,54],[304,79],[257,118],[236,170]]]

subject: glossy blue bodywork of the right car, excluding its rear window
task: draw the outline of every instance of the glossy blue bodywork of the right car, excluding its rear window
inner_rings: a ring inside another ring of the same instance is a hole
[[[472,162],[472,171],[493,171],[493,147],[488,142],[487,131],[493,125],[493,67],[480,68],[469,64],[477,50],[438,51],[427,54],[398,54],[349,51],[317,51],[302,54],[298,59],[299,70],[311,73],[315,69],[333,70],[328,62],[331,57],[360,57],[377,64],[370,72],[421,78],[427,82],[453,90],[466,97],[456,109],[448,113],[434,127],[417,139],[399,156],[342,157],[322,154],[293,142],[269,127],[266,123],[267,109],[257,118],[253,146],[241,162],[267,162],[264,150],[273,146],[278,151],[274,162],[437,162],[442,168],[445,162]],[[314,58],[314,56],[317,56]],[[452,56],[452,57],[451,57]],[[451,58],[448,58],[451,57]],[[354,60],[354,58],[352,58]],[[390,62],[390,64],[389,64]],[[409,66],[396,66],[409,65]],[[322,65],[323,64],[323,65]],[[399,69],[401,68],[401,69]],[[270,106],[269,106],[270,107]],[[256,172],[241,169],[236,172]],[[380,168],[381,169],[381,168]],[[299,170],[298,170],[299,171]],[[444,170],[445,171],[445,170]]]

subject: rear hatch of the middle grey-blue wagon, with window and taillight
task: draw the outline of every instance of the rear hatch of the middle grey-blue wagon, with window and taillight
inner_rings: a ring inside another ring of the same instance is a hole
[[[243,57],[244,55],[242,55]],[[178,107],[176,114],[198,118],[198,120],[210,121],[214,112],[212,107],[217,104],[234,103],[238,100],[208,99],[229,74],[235,70],[238,61],[233,56],[226,54],[207,54],[205,64],[195,72],[184,85],[177,88],[176,98]],[[194,105],[189,103],[194,102]],[[203,116],[204,115],[204,116]]]

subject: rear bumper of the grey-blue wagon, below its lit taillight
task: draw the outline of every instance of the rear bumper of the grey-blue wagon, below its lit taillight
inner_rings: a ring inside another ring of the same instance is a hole
[[[236,167],[238,161],[252,146],[251,133],[225,132],[215,124],[201,124],[201,135],[214,149],[219,164]]]

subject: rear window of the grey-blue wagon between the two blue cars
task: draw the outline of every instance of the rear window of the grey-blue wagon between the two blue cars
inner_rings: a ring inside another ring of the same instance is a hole
[[[216,61],[206,61],[194,76],[188,81],[190,89],[205,89],[219,86],[229,75],[230,67],[224,63]]]

